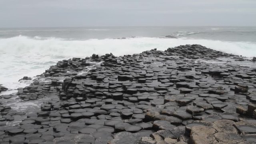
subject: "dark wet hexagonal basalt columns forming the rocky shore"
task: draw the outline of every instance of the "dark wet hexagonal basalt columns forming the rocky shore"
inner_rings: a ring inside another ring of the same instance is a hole
[[[199,60],[223,57],[244,60],[194,44],[59,61],[18,89],[24,101],[52,98],[41,110],[0,105],[0,143],[253,144],[256,69]]]

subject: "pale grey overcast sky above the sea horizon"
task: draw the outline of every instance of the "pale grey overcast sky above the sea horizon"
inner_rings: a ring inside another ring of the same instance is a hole
[[[0,27],[256,26],[256,0],[0,0]]]

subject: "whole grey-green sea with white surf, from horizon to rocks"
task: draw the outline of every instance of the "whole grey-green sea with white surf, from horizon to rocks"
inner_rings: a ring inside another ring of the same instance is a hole
[[[176,38],[164,38],[168,35]],[[250,59],[256,56],[256,27],[0,28],[0,84],[10,89],[1,94],[27,86],[30,81],[18,80],[36,78],[59,60],[94,53],[121,56],[184,44],[201,44]]]

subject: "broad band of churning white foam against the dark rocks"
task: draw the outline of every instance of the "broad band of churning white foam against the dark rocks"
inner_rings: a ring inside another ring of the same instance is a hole
[[[61,38],[29,38],[16,36],[0,39],[0,84],[16,89],[26,84],[18,82],[23,76],[36,76],[59,60],[86,57],[93,53],[112,52],[116,56],[140,53],[157,48],[166,50],[184,44],[201,44],[214,50],[243,56],[256,56],[256,43],[224,42],[187,38],[148,38],[63,40]]]

